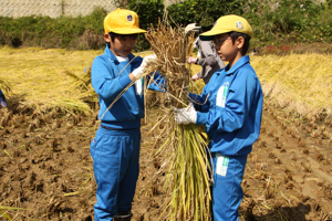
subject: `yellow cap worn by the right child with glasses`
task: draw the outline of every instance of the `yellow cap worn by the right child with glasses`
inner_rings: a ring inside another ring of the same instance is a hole
[[[214,28],[210,31],[201,33],[199,35],[199,39],[203,41],[209,41],[212,40],[217,34],[222,34],[231,31],[241,32],[248,34],[249,36],[252,35],[252,29],[245,18],[229,14],[220,17]]]

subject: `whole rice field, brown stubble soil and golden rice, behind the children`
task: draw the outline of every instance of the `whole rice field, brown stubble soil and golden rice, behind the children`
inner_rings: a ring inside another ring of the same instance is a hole
[[[93,220],[89,148],[100,122],[83,70],[101,53],[0,49],[0,88],[10,85],[8,108],[0,108],[0,220]],[[331,61],[329,54],[251,56],[264,109],[242,182],[241,221],[332,220]],[[194,84],[197,92],[203,86]],[[154,157],[166,139],[164,123],[155,127],[163,110],[157,97],[147,103],[133,221],[167,220],[165,158]]]

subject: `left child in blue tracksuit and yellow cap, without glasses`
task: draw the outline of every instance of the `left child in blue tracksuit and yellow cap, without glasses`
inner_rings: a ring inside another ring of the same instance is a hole
[[[106,49],[103,55],[95,57],[91,69],[92,86],[101,107],[101,126],[90,147],[97,185],[94,220],[131,220],[139,170],[143,81],[136,81],[111,108],[108,106],[139,78],[152,56],[143,60],[132,54],[138,33],[146,32],[139,29],[134,11],[112,11],[104,19],[104,29]]]

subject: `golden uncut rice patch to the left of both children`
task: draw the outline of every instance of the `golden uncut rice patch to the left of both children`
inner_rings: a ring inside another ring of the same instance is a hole
[[[102,51],[66,51],[2,48],[0,73],[12,88],[9,107],[14,110],[46,113],[51,109],[66,113],[91,113],[86,97],[91,91],[82,91],[77,80],[69,72],[82,76],[94,56]]]

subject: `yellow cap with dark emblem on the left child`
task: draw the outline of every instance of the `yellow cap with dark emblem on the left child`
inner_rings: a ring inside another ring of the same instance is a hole
[[[126,9],[116,9],[104,19],[105,33],[137,34],[146,31],[139,29],[139,20],[136,12]]]

